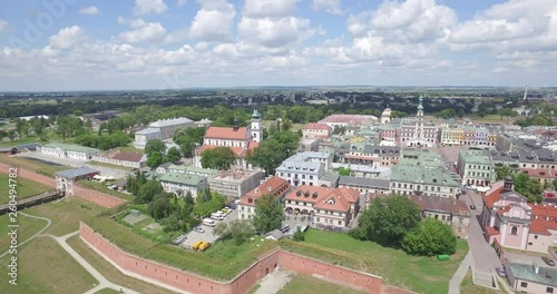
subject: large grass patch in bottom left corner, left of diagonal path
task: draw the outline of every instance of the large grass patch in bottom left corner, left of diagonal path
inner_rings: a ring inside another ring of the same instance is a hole
[[[0,278],[0,293],[76,294],[98,284],[51,238],[39,237],[31,241],[18,251],[17,256],[18,285],[13,287],[9,284],[4,273]],[[6,255],[0,258],[0,263],[8,264],[10,257]]]

